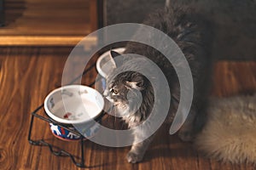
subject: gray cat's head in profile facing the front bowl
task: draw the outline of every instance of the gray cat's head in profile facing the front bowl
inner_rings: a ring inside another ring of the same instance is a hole
[[[120,54],[111,51],[113,58]],[[116,65],[115,65],[116,66]],[[119,65],[121,68],[122,65]],[[143,94],[148,87],[148,79],[137,71],[119,71],[115,67],[107,77],[107,87],[104,96],[116,107],[116,116],[125,116],[137,111],[141,105]]]

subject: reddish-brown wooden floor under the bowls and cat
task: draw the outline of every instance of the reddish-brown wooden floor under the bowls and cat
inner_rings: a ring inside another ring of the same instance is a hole
[[[0,169],[77,169],[68,157],[54,156],[47,147],[27,141],[31,112],[49,91],[61,85],[61,74],[71,48],[0,48]],[[75,68],[70,68],[75,69]],[[256,91],[256,62],[221,61],[215,66],[213,95],[228,96]],[[91,76],[84,79],[90,83]],[[35,120],[32,139],[44,139],[79,156],[77,142],[64,142]],[[181,142],[163,127],[144,161],[125,160],[129,147],[110,148],[85,141],[85,164],[90,169],[198,169],[253,170],[253,165],[231,165],[200,156],[190,143]]]

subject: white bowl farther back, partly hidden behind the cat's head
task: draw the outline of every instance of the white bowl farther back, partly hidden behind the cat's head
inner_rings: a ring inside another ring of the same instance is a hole
[[[118,52],[119,54],[123,54],[125,51],[125,48],[114,48],[112,49],[115,52]],[[100,92],[103,92],[106,89],[106,77],[108,77],[108,74],[112,71],[113,66],[111,62],[108,62],[111,60],[110,57],[110,50],[103,53],[97,60],[96,60],[96,70],[99,73],[100,76],[100,83],[96,83],[96,89]],[[108,66],[106,64],[108,63]]]

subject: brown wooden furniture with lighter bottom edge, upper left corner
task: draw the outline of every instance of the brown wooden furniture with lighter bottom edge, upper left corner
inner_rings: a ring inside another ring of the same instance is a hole
[[[1,46],[74,46],[92,28],[96,29],[96,18],[90,23],[96,17],[90,16],[96,14],[93,1],[7,0],[6,4],[6,26],[0,28]],[[96,43],[92,39],[89,44]]]

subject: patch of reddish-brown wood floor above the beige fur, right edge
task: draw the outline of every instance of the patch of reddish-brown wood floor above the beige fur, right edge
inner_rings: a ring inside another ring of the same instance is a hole
[[[212,95],[223,97],[256,92],[256,62],[222,61],[214,66]]]

